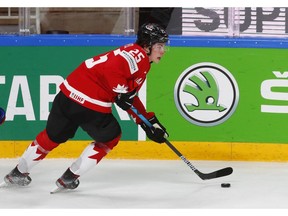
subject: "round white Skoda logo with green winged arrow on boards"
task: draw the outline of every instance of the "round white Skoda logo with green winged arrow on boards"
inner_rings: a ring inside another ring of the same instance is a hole
[[[174,100],[187,121],[199,126],[214,126],[234,113],[239,90],[226,68],[203,62],[183,71],[175,84]]]

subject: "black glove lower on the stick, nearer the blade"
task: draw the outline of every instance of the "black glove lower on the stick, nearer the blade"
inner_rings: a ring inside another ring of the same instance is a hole
[[[153,127],[150,128],[144,122],[140,123],[140,126],[145,131],[147,137],[157,143],[165,142],[166,138],[169,136],[166,128],[160,124],[156,116],[148,119],[148,121],[152,124]]]

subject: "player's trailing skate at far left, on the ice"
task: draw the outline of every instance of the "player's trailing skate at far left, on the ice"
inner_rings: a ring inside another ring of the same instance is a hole
[[[21,173],[16,166],[4,177],[4,181],[7,185],[27,186],[31,183],[32,179],[29,173]]]

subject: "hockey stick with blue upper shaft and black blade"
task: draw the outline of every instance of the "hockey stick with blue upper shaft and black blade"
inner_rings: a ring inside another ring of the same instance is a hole
[[[131,107],[131,110],[148,126],[153,127],[152,124],[141,114],[135,107]],[[174,153],[176,153],[202,180],[214,179],[223,176],[230,175],[233,172],[232,167],[226,167],[211,173],[202,173],[196,167],[194,167],[190,161],[188,161],[176,148],[166,139],[165,143],[169,146]]]

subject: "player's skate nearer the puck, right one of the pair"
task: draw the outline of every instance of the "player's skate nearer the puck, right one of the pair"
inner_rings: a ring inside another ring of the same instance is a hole
[[[75,175],[71,172],[71,170],[68,168],[65,173],[56,181],[56,185],[59,188],[64,189],[75,189],[79,186],[79,175]]]

